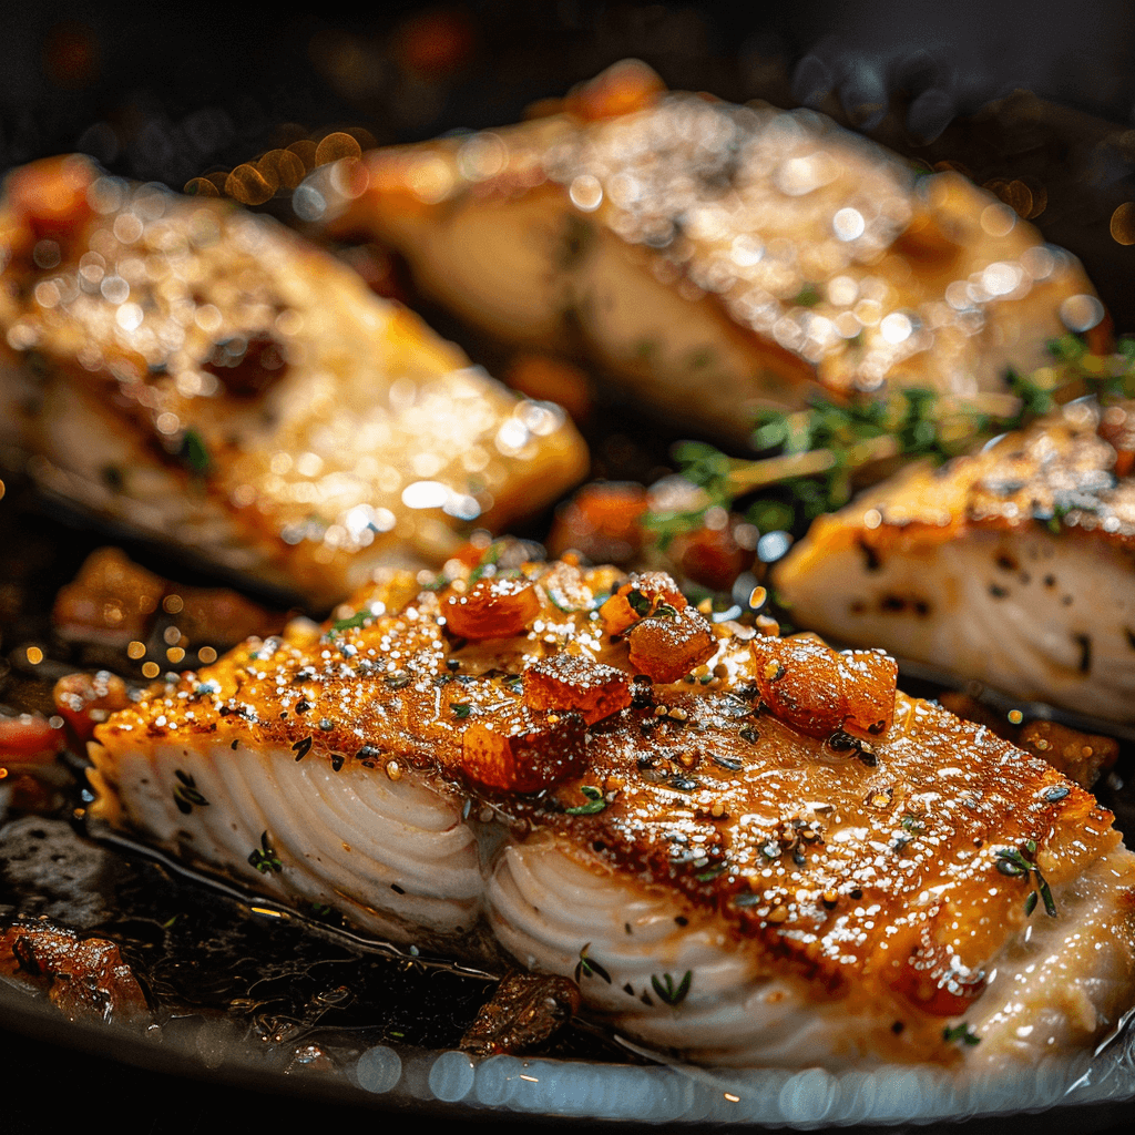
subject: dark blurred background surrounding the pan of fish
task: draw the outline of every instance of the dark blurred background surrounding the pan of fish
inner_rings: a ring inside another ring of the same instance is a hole
[[[507,123],[637,56],[672,87],[816,107],[909,158],[950,162],[1017,207],[1025,186],[1025,215],[1084,260],[1117,329],[1135,331],[1135,233],[1115,219],[1135,201],[1129,2],[481,0],[371,6],[364,18],[85,3],[16,16],[14,7],[0,15],[0,171],[82,150],[180,188],[330,129],[369,144]],[[138,1071],[2,1028],[0,1053],[5,1135],[100,1120],[151,1135],[422,1124]],[[969,1127],[1096,1130],[1121,1115]]]

